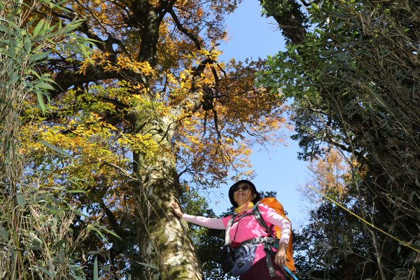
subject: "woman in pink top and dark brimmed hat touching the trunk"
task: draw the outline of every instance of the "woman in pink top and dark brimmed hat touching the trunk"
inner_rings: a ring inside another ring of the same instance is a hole
[[[230,240],[235,242],[242,242],[248,239],[253,239],[255,237],[265,237],[267,232],[264,228],[258,223],[253,215],[244,215],[252,213],[253,205],[260,200],[260,195],[258,194],[255,186],[251,181],[241,180],[233,184],[229,189],[229,199],[230,202],[237,213],[235,221],[232,223],[229,231]],[[184,220],[195,223],[196,225],[202,225],[207,228],[214,228],[218,230],[225,230],[228,221],[232,216],[225,218],[205,218],[200,216],[191,216],[188,214],[183,214],[179,205],[174,203],[173,205],[174,212],[176,216],[183,218]],[[275,253],[274,262],[272,263],[275,276],[269,275],[269,267],[267,265],[266,254],[264,251],[263,244],[258,244],[258,247],[255,249],[255,258],[253,260],[252,266],[248,271],[244,272],[239,279],[241,280],[252,280],[252,279],[286,279],[286,273],[283,269],[283,265],[286,262],[286,247],[288,244],[288,239],[290,237],[290,222],[283,218],[274,211],[274,209],[268,207],[265,204],[258,204],[260,213],[265,223],[268,227],[270,225],[276,225],[281,228],[281,239],[279,241],[279,248]]]

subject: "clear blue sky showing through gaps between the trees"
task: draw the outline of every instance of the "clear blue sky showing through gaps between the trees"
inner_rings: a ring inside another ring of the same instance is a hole
[[[244,0],[235,11],[228,15],[226,25],[230,40],[222,43],[221,60],[230,58],[243,60],[248,58],[265,58],[284,49],[284,39],[274,20],[261,16],[258,0]],[[255,170],[253,183],[258,190],[275,190],[277,199],[288,211],[288,218],[294,228],[304,225],[307,216],[301,194],[297,191],[308,177],[307,163],[297,160],[297,143],[287,139],[288,146],[269,147],[269,152],[253,148],[251,163]],[[221,214],[228,207],[228,189],[230,185],[218,190],[211,190],[210,206],[216,214]]]

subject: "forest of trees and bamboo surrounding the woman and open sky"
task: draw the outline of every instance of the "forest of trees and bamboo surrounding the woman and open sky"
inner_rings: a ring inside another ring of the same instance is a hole
[[[0,278],[231,278],[172,202],[216,216],[200,190],[293,125],[300,279],[416,279],[420,1],[260,4],[286,50],[223,62],[241,1],[0,3]]]

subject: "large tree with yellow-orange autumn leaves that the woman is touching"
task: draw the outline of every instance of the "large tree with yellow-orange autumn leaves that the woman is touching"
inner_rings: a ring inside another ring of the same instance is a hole
[[[223,16],[238,3],[83,0],[54,10],[62,25],[83,20],[75,32],[93,50],[83,59],[58,47],[38,67],[54,90],[45,116],[25,111],[25,155],[29,176],[48,174],[41,186],[64,186],[87,214],[73,223],[76,235],[107,226],[83,244],[108,248],[106,258],[80,260],[85,272],[97,258],[134,279],[202,279],[188,227],[172,213],[188,191],[180,176],[196,188],[251,176],[250,147],[281,141],[281,94],[254,86],[262,61],[218,61]]]

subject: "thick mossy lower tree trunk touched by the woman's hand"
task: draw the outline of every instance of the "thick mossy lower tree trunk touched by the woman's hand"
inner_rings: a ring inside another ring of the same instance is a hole
[[[150,113],[150,112],[149,112]],[[185,221],[172,211],[172,202],[179,203],[179,177],[171,139],[172,120],[146,116],[146,112],[131,114],[134,131],[158,132],[154,139],[165,153],[153,163],[144,155],[134,154],[134,172],[141,183],[134,187],[137,235],[140,245],[143,275],[136,279],[202,279],[202,272]],[[159,277],[160,275],[160,277]],[[159,277],[159,278],[158,278]]]

